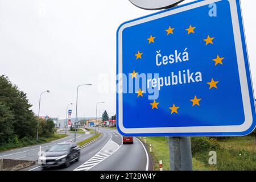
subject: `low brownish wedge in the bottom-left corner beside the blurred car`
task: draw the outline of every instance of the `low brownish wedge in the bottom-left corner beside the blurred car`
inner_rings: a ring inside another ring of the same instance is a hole
[[[0,171],[18,171],[35,165],[35,161],[0,159]]]

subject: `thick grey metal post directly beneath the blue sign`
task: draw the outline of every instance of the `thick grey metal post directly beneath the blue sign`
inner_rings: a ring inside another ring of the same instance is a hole
[[[169,137],[171,171],[192,171],[190,137]]]

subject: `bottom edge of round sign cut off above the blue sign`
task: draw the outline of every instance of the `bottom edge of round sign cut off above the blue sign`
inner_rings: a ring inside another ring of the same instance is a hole
[[[159,10],[172,7],[184,0],[129,0],[133,5],[146,10]]]

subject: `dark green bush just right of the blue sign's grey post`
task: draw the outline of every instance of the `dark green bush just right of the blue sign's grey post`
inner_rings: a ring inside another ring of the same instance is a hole
[[[217,141],[213,138],[207,137],[192,137],[191,138],[191,150],[192,155],[198,152],[209,152],[209,151],[216,151],[220,148],[220,145]]]

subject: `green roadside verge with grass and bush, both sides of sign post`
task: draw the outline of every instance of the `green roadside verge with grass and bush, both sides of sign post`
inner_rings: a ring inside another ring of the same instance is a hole
[[[139,137],[144,143],[144,137]],[[164,137],[146,137],[147,150],[152,146],[154,170],[159,170],[159,160],[163,161],[163,170],[170,170],[169,148]],[[208,164],[209,151],[217,152],[217,165]],[[196,147],[196,148],[195,148]],[[199,150],[201,148],[201,150]],[[193,171],[255,171],[256,144],[254,137],[230,137],[224,140],[192,138]]]

